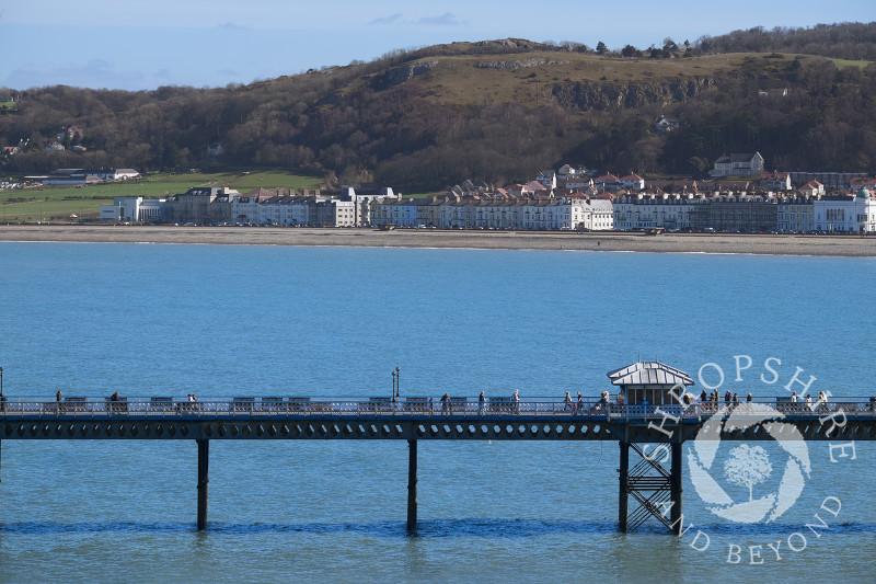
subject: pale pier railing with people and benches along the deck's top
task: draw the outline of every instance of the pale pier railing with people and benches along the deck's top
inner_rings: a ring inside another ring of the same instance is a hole
[[[779,412],[785,417],[819,419],[842,411],[853,417],[876,417],[876,398],[841,398],[837,401],[792,402],[787,397],[756,398],[751,402],[695,401],[690,404],[622,404],[600,400],[565,402],[562,399],[451,397],[327,398],[327,397],[233,397],[192,401],[176,397],[123,397],[117,400],[94,397],[9,398],[0,401],[0,417],[360,417],[393,419],[581,419],[608,421],[680,419],[702,421],[724,409],[726,414],[763,415]]]

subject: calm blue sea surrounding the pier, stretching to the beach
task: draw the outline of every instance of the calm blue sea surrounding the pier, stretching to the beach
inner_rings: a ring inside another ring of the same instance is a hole
[[[867,398],[875,293],[876,259],[4,242],[0,366],[10,399],[388,397],[396,367],[403,397],[595,398],[639,359]],[[199,533],[194,440],[7,439],[0,582],[876,581],[876,445],[806,444],[749,524],[685,445],[676,537],[618,531],[615,442],[420,440],[408,534],[404,440],[212,440]]]

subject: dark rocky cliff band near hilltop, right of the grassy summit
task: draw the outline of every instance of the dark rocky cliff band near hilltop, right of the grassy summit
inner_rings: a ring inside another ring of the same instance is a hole
[[[685,102],[715,85],[715,79],[706,78],[625,85],[575,82],[554,85],[552,93],[566,108],[609,111]]]

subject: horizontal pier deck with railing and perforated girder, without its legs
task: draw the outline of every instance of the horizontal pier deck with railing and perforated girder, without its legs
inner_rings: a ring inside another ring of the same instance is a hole
[[[715,417],[722,439],[773,439],[769,421],[804,439],[876,439],[872,398],[808,404],[785,398],[689,405],[621,405],[509,398],[171,397],[14,398],[0,403],[0,439],[537,439],[685,442]],[[762,422],[762,423],[761,423]],[[676,428],[670,432],[667,428]]]

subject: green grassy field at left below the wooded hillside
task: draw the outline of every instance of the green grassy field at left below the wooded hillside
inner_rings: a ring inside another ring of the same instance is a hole
[[[89,186],[39,186],[0,191],[0,222],[90,221],[100,216],[101,205],[113,197],[166,197],[193,186],[228,186],[241,193],[256,188],[319,188],[321,176],[285,171],[155,173],[137,181]],[[76,215],[76,217],[71,217]]]

